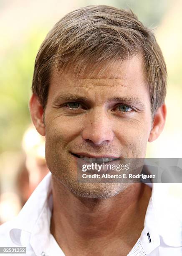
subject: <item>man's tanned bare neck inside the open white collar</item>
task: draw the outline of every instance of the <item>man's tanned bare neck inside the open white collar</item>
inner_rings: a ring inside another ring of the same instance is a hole
[[[54,177],[52,182],[51,233],[66,256],[131,250],[143,230],[147,185],[131,184],[114,197],[95,199],[74,195]]]

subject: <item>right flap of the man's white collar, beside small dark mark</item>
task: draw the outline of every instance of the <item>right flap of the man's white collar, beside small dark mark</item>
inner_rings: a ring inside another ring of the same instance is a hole
[[[147,254],[161,241],[167,246],[182,246],[182,197],[179,195],[182,195],[182,184],[152,184],[152,197],[140,237]]]

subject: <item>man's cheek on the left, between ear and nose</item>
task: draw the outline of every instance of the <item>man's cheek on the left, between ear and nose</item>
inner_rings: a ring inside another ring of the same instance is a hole
[[[76,119],[76,118],[75,118]],[[57,117],[46,123],[46,162],[51,172],[56,173],[70,164],[68,154],[71,142],[80,134],[78,120]]]

